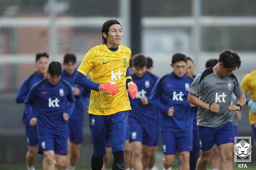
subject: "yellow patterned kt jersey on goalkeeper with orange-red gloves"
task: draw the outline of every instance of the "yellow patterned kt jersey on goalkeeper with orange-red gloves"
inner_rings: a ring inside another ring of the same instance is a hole
[[[91,48],[81,62],[78,71],[89,73],[91,81],[105,84],[116,83],[119,92],[111,94],[91,91],[89,113],[94,115],[111,115],[119,111],[131,110],[126,93],[126,71],[129,66],[131,50],[119,45],[117,51],[111,51],[105,44]]]

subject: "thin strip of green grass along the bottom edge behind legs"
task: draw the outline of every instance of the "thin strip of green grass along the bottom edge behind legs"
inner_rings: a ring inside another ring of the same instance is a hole
[[[236,165],[236,169],[256,170],[255,166],[256,165],[247,164],[247,168],[238,168],[238,165]],[[42,170],[42,168],[39,166],[36,166],[35,168],[36,170]],[[0,165],[0,170],[27,170],[27,169],[26,169],[26,165]],[[78,167],[76,170],[90,170],[90,169]],[[111,170],[111,169],[107,169],[107,170]],[[178,167],[173,167],[172,170],[178,170]],[[207,170],[211,170],[211,168],[208,167]]]

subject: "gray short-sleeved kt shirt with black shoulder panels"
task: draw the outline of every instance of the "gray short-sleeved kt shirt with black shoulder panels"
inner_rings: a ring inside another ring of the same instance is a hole
[[[232,73],[228,77],[218,77],[213,73],[213,68],[207,68],[200,72],[188,92],[198,96],[204,103],[213,104],[219,101],[218,113],[210,112],[208,109],[199,108],[197,112],[197,126],[219,127],[227,122],[232,122],[231,113],[226,109],[231,104],[231,94],[236,97],[244,92],[236,76]]]

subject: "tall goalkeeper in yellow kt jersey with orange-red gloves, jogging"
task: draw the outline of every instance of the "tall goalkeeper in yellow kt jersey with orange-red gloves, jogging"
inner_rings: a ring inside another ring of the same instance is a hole
[[[128,69],[131,51],[120,45],[123,36],[121,24],[108,20],[102,25],[101,33],[103,44],[88,51],[75,74],[74,82],[92,90],[89,107],[92,170],[101,170],[108,138],[111,138],[114,155],[112,170],[121,170],[125,168],[126,116],[127,110],[131,110],[126,84],[133,99],[137,86],[132,82]],[[90,80],[85,77],[87,74]]]

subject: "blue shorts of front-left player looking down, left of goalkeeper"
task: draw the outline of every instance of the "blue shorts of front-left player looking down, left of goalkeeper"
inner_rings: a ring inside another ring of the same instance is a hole
[[[43,151],[53,150],[55,154],[66,155],[68,150],[68,132],[60,134],[50,134],[47,131],[38,133],[38,151],[43,154]]]

